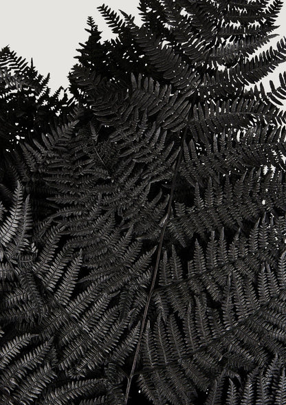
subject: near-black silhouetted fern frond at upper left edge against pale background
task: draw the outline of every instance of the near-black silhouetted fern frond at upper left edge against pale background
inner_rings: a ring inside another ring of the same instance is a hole
[[[72,111],[63,87],[50,96],[49,80],[50,74],[44,78],[32,61],[28,65],[9,47],[0,51],[1,153],[14,149],[19,140],[39,139],[50,123],[65,120]]]

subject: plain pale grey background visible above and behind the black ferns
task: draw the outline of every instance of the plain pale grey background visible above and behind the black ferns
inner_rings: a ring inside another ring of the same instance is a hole
[[[124,10],[135,16],[140,23],[137,5],[139,0],[106,0],[105,5],[112,10]],[[111,38],[112,32],[104,22],[97,7],[101,0],[9,0],[2,5],[0,14],[0,49],[10,45],[18,56],[30,62],[44,76],[50,72],[49,86],[55,91],[61,85],[68,86],[67,74],[77,62],[78,43],[85,43],[88,38],[87,17],[94,17],[102,31],[102,39]],[[278,19],[281,28],[277,33],[286,36],[286,0]],[[274,39],[274,44],[279,38]],[[286,63],[276,69],[269,78],[278,83],[279,72],[286,71]],[[267,79],[269,81],[269,79]],[[266,80],[266,82],[267,82]],[[267,83],[265,83],[267,87]]]

